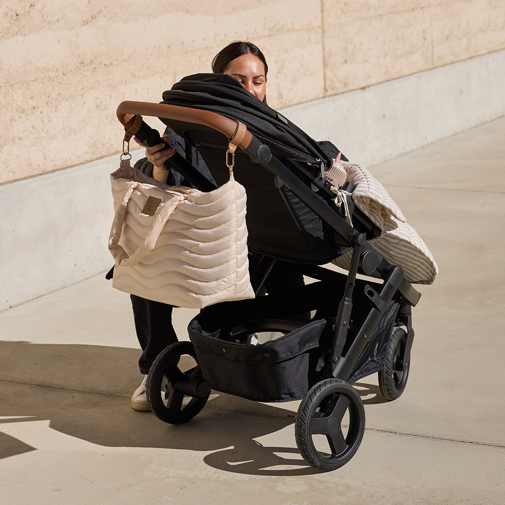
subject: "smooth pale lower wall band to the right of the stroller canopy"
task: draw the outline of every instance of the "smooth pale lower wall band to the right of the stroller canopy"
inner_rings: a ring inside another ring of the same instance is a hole
[[[371,166],[505,115],[505,51],[283,110]]]

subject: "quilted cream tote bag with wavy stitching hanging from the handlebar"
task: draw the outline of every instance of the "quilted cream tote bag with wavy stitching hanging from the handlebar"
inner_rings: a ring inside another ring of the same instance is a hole
[[[167,186],[122,162],[111,185],[113,287],[191,309],[254,297],[245,189],[232,172],[206,193]]]

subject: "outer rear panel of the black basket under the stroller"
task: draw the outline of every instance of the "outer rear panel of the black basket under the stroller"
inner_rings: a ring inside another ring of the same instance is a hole
[[[331,324],[313,321],[259,345],[207,333],[198,316],[188,327],[205,381],[213,388],[257,401],[301,399],[322,379]]]

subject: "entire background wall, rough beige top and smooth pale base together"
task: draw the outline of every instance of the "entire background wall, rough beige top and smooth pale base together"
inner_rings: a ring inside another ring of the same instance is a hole
[[[502,0],[381,4],[2,2],[0,311],[112,266],[117,105],[231,40],[264,51],[272,107],[363,165],[505,115]]]

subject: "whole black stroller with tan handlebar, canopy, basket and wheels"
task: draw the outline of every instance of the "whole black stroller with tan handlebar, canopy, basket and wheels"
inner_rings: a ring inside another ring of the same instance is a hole
[[[123,102],[118,118],[146,145],[161,140],[141,116],[160,118],[195,146],[214,181],[184,156],[170,161],[203,191],[227,182],[234,164],[247,193],[256,297],[211,305],[190,321],[190,341],[167,347],[150,369],[149,407],[179,424],[203,409],[211,389],[263,402],[301,400],[301,456],[320,471],[337,469],[355,455],[365,431],[363,401],[351,384],[378,373],[387,400],[406,387],[411,310],[420,293],[370,244],[381,230],[354,205],[352,184],[341,193],[346,205],[335,206],[324,174],[338,153],[333,145],[315,142],[226,75],[186,77],[163,98]],[[344,254],[347,274],[328,266]],[[276,264],[311,282],[265,294]]]

